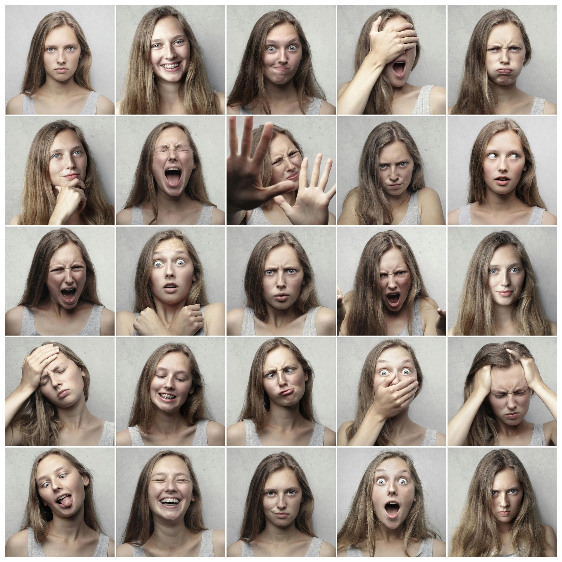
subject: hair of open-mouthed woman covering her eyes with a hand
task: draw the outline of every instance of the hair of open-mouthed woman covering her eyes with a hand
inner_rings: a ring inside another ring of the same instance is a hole
[[[373,22],[379,16],[382,17],[382,21],[379,25],[379,31],[384,29],[384,25],[389,19],[392,19],[396,16],[403,17],[407,22],[414,25],[414,18],[410,16],[409,13],[398,10],[398,8],[384,8],[383,10],[379,10],[378,12],[375,12],[372,16],[370,16],[369,19],[365,21],[365,24],[361,29],[359,40],[357,41],[357,47],[355,48],[355,73],[357,73],[362,62],[365,60],[365,57],[369,54],[369,31],[371,30],[371,26],[373,26]],[[420,46],[420,43],[416,43],[416,55],[414,58],[414,65],[412,66],[412,70],[414,70],[416,65],[418,64],[421,48],[422,47]],[[365,109],[363,110],[363,115],[391,115],[392,96],[392,85],[388,81],[386,76],[381,73],[379,78],[375,82],[371,93],[369,94],[367,104],[365,106]]]

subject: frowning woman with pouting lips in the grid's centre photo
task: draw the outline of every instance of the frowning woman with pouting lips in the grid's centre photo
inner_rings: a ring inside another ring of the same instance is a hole
[[[301,243],[285,230],[253,248],[244,275],[247,306],[229,310],[228,336],[334,336],[336,315],[320,305]]]

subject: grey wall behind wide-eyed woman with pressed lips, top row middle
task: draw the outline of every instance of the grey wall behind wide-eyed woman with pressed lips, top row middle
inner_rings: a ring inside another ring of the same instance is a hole
[[[255,6],[228,6],[226,17],[226,96],[232,90],[238,76],[242,55],[256,21],[264,13],[287,10],[301,24],[312,51],[312,68],[316,80],[326,94],[326,101],[336,105],[336,6],[295,6],[294,4]]]

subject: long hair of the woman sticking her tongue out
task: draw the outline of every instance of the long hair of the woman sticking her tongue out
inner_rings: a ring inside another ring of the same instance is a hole
[[[49,522],[53,519],[51,507],[43,505],[43,500],[39,496],[37,488],[37,465],[48,456],[58,455],[68,461],[81,477],[87,477],[89,482],[84,486],[84,523],[93,531],[103,533],[101,524],[99,524],[96,506],[94,506],[94,478],[92,473],[69,452],[63,449],[49,449],[43,451],[33,461],[31,467],[31,475],[29,478],[28,504],[25,506],[24,522],[20,531],[31,527],[37,542],[43,542],[49,534]]]

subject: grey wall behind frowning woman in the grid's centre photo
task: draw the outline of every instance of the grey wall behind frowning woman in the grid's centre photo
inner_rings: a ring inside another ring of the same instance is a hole
[[[309,256],[316,294],[322,306],[334,308],[336,280],[336,229],[330,226],[229,226],[226,245],[228,248],[228,285],[226,287],[226,310],[245,306],[244,274],[253,248],[265,235],[285,230],[297,238]]]

